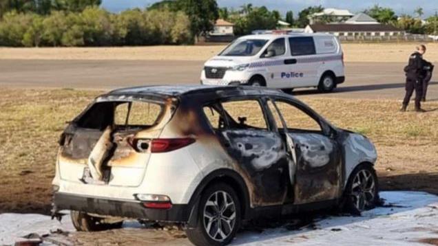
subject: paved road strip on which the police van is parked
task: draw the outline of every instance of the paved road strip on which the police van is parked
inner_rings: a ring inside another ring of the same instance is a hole
[[[401,98],[404,63],[347,63],[346,82],[324,96]],[[198,84],[202,61],[0,60],[0,86],[114,89],[138,85]],[[299,90],[295,95],[317,95]],[[438,83],[429,98],[438,100]]]

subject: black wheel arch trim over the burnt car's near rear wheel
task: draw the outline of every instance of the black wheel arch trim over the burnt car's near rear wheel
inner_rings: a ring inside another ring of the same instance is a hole
[[[204,177],[204,179],[202,179],[202,181],[198,184],[198,187],[196,187],[194,193],[191,195],[191,198],[189,200],[189,221],[187,221],[188,227],[196,226],[196,218],[198,216],[198,204],[202,192],[213,183],[219,182],[229,184],[229,186],[231,186],[236,191],[238,197],[242,199],[240,201],[242,219],[249,219],[249,203],[251,200],[249,197],[249,190],[246,183],[244,182],[244,179],[235,170],[221,168],[210,172],[209,175]]]

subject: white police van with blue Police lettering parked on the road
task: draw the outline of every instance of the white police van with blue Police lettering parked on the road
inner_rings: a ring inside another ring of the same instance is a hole
[[[332,91],[344,82],[344,54],[331,34],[242,36],[205,63],[203,85]]]

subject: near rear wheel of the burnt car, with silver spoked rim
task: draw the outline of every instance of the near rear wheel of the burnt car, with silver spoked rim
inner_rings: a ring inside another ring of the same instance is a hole
[[[240,227],[240,214],[240,201],[233,188],[215,183],[202,192],[196,227],[186,230],[187,238],[198,246],[227,245]]]

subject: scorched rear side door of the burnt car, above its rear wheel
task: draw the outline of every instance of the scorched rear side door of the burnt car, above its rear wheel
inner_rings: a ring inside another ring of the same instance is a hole
[[[227,153],[249,177],[252,205],[284,203],[289,184],[287,148],[273,131],[260,98],[222,100],[204,112]],[[213,118],[214,114],[220,117]]]

